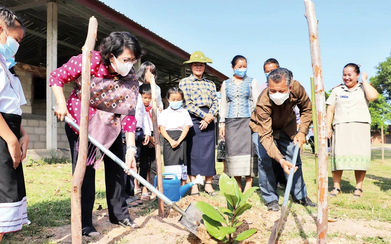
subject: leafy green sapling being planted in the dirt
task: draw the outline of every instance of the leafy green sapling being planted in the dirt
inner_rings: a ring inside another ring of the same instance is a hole
[[[257,232],[257,229],[249,229],[236,236],[232,235],[236,228],[242,224],[242,222],[238,222],[239,216],[252,207],[247,203],[247,199],[259,187],[251,187],[243,194],[235,178],[231,179],[224,173],[220,175],[219,186],[221,193],[227,200],[227,208],[217,207],[217,210],[210,204],[201,201],[196,202],[195,207],[204,213],[202,218],[206,230],[211,236],[229,244],[237,244]]]

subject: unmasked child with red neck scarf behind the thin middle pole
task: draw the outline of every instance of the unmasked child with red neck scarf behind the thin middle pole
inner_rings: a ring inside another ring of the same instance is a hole
[[[152,132],[149,142],[148,143],[143,142],[143,145],[141,147],[140,166],[139,166],[140,176],[153,184],[153,181],[156,176],[156,154],[155,154],[155,144],[153,140],[153,126],[152,126],[152,113],[151,113],[152,112],[151,85],[146,83],[140,85],[139,93],[141,95],[141,99],[145,107],[145,110],[147,111],[146,118],[148,121],[145,123],[146,124],[148,123],[148,127]],[[148,177],[148,175],[150,175],[150,177]],[[140,184],[140,186],[142,186],[141,200],[150,201],[155,198],[154,194],[152,194],[151,197],[149,196],[147,187],[143,186],[142,184]]]

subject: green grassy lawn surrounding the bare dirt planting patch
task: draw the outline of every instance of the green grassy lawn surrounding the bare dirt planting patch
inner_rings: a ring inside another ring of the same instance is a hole
[[[315,161],[314,156],[305,151],[302,156],[304,180],[307,185],[309,198],[316,202]],[[367,219],[391,223],[391,151],[385,151],[386,163],[381,163],[381,151],[372,151],[372,164],[364,181],[364,197],[352,198],[355,187],[353,171],[344,172],[342,178],[341,195],[329,199],[329,218]],[[107,208],[104,181],[104,166],[96,171],[96,200],[94,209],[99,205]],[[217,174],[222,172],[222,163],[217,163]],[[10,234],[4,243],[24,243],[26,237],[48,238],[43,231],[45,227],[56,227],[70,224],[70,189],[71,163],[66,160],[29,161],[24,165],[24,174],[27,190],[28,219],[32,224],[23,227],[16,234]],[[329,172],[329,190],[332,188],[331,172]],[[244,185],[244,179],[243,179]],[[254,179],[254,186],[258,186],[258,178]],[[218,186],[214,186],[218,190]],[[280,196],[283,190],[279,189]],[[205,193],[201,193],[205,195]],[[209,196],[207,196],[209,197]],[[223,197],[216,198],[223,202]],[[261,194],[253,194],[252,204],[264,207]],[[283,198],[280,198],[280,204]],[[138,214],[151,215],[156,209],[156,202],[145,206]],[[303,208],[298,204],[290,204],[289,210],[294,216],[312,214],[316,216],[315,208]],[[315,232],[305,234],[306,237],[316,237]],[[335,235],[335,234],[334,234]],[[289,232],[289,238],[300,238],[303,233],[297,229]],[[333,236],[329,236],[333,237]],[[283,239],[281,239],[283,241]],[[383,243],[381,240],[366,240],[369,243]]]

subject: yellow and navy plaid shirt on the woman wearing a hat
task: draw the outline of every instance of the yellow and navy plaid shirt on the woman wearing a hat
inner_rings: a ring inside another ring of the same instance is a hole
[[[218,103],[216,95],[216,85],[212,81],[202,78],[198,80],[194,74],[179,81],[179,88],[185,97],[185,109],[202,119],[206,113],[199,107],[209,107],[209,113],[216,116],[218,113]]]

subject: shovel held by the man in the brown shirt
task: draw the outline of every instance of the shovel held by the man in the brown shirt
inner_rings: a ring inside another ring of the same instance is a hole
[[[293,157],[292,157],[292,164],[293,167],[290,168],[289,172],[289,177],[288,181],[286,182],[286,188],[285,188],[285,194],[284,194],[284,202],[282,203],[281,206],[281,216],[278,222],[276,222],[273,226],[272,233],[270,234],[269,237],[269,242],[267,244],[275,244],[277,235],[280,232],[282,220],[285,218],[286,211],[288,210],[288,200],[289,200],[289,194],[290,194],[290,189],[292,188],[292,181],[293,181],[293,174],[295,173],[295,167],[296,167],[296,160],[297,160],[297,155],[299,154],[299,142],[296,143],[295,145],[295,150],[293,151]]]

